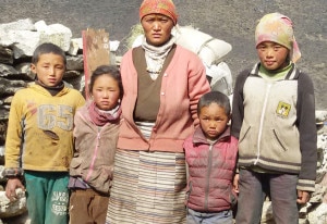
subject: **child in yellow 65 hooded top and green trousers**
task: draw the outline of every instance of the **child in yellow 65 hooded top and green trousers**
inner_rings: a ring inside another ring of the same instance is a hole
[[[19,90],[12,100],[5,139],[5,195],[25,179],[27,210],[33,224],[68,223],[69,164],[73,155],[73,117],[85,103],[62,82],[65,54],[53,43],[38,46],[31,71],[34,85]]]

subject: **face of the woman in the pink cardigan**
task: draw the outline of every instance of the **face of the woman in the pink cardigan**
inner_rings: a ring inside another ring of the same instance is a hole
[[[141,21],[146,41],[149,45],[159,47],[166,43],[174,26],[172,20],[162,14],[145,15]]]

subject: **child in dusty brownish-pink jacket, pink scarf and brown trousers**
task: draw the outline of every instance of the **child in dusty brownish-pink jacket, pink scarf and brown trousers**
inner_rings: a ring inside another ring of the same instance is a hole
[[[92,100],[74,120],[70,223],[105,223],[123,95],[117,66],[97,67],[89,83]]]

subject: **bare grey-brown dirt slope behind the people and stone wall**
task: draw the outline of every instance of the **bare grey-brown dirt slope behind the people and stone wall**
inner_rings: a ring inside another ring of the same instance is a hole
[[[138,23],[142,0],[69,1],[69,0],[2,0],[0,23],[31,17],[44,20],[48,25],[60,23],[81,37],[81,30],[105,28],[111,40],[120,40],[120,52],[126,48],[124,40],[131,26]],[[233,77],[257,61],[254,49],[256,21],[269,12],[290,16],[295,26],[295,37],[302,51],[298,65],[307,72],[314,82],[316,105],[327,110],[327,1],[312,0],[174,0],[180,25],[193,25],[213,37],[232,45],[225,61]]]

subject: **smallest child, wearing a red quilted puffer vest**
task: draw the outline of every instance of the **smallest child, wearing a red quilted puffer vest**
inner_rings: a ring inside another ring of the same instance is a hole
[[[230,113],[229,98],[219,91],[205,94],[198,101],[199,127],[184,142],[189,224],[233,223],[238,140],[230,135]]]

